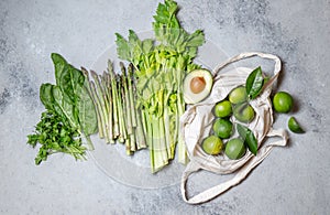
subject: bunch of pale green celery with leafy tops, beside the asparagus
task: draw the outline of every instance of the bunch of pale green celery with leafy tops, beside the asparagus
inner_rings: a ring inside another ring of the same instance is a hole
[[[186,32],[179,24],[177,3],[165,0],[154,15],[155,40],[141,41],[130,30],[125,40],[117,35],[117,52],[121,60],[135,68],[136,109],[141,110],[153,172],[174,158],[187,162],[186,148],[179,135],[179,118],[185,111],[183,80],[187,73],[200,66],[194,64],[198,46],[205,42],[204,32]]]

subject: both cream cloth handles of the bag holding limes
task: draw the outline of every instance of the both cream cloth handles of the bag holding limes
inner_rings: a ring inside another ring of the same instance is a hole
[[[234,63],[237,61],[248,58],[248,57],[253,57],[253,56],[260,56],[262,58],[270,58],[270,60],[275,61],[274,75],[266,83],[266,85],[264,86],[264,89],[272,87],[274,82],[276,82],[279,71],[280,71],[280,67],[282,67],[280,60],[275,55],[260,53],[260,52],[241,53],[237,56],[233,56],[232,58],[229,58],[224,63],[220,64],[213,71],[215,80],[217,80],[220,77],[219,72],[222,68],[224,68],[227,65]],[[243,168],[241,168],[231,180],[220,183],[219,185],[210,187],[210,189],[193,196],[191,198],[188,198],[187,191],[186,191],[186,184],[189,179],[189,175],[191,175],[193,173],[195,173],[201,169],[199,163],[194,161],[194,157],[190,158],[190,162],[187,164],[187,168],[182,175],[182,182],[180,182],[180,192],[182,192],[182,196],[183,196],[184,201],[189,204],[204,203],[204,202],[210,201],[210,200],[215,198],[216,196],[222,194],[223,192],[228,191],[230,187],[238,185],[239,183],[241,183],[241,181],[243,181],[248,176],[248,174],[257,164],[260,164],[270,154],[273,147],[286,146],[287,138],[288,138],[285,130],[274,130],[274,129],[271,129],[268,131],[267,137],[280,137],[282,140],[268,143],[267,146],[261,148],[257,155],[250,159],[245,163],[245,165]]]

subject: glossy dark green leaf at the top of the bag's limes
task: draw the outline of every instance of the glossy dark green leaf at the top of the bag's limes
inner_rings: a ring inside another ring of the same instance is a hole
[[[250,99],[254,99],[258,96],[264,85],[264,78],[262,69],[258,66],[246,78],[245,88]]]

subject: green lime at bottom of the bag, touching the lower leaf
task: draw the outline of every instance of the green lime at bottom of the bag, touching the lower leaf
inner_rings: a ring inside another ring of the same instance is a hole
[[[229,159],[240,159],[245,154],[246,148],[240,138],[231,139],[227,142],[224,153]]]

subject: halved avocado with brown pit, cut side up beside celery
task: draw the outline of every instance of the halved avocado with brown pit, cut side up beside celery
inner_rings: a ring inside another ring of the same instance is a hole
[[[184,79],[184,100],[186,104],[197,104],[210,94],[213,76],[208,69],[195,69]]]

